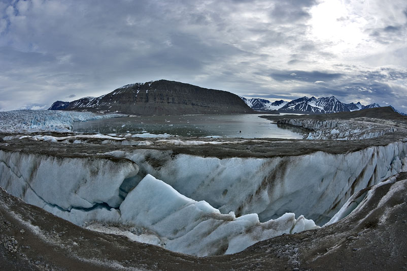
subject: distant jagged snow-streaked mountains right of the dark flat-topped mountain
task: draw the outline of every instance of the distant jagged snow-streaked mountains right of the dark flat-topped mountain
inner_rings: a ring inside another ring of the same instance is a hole
[[[308,98],[307,96],[304,96],[302,98],[292,100],[291,102],[283,100],[270,102],[265,99],[247,99],[244,97],[240,98],[253,110],[264,112],[277,110],[281,113],[325,114],[346,111],[350,112],[367,108],[380,107],[380,105],[376,103],[369,105],[362,105],[360,102],[345,104],[336,99],[334,96],[321,97],[318,99],[315,97]],[[407,115],[394,109],[394,107],[392,106],[390,107],[397,113]]]

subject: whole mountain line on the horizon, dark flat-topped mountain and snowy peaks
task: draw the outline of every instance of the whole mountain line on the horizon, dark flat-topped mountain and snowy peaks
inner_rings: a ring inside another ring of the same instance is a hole
[[[72,102],[56,101],[49,110],[75,110],[101,113],[120,112],[137,115],[165,114],[227,114],[253,113],[302,113],[324,114],[380,107],[374,103],[362,105],[345,104],[334,96],[308,98],[306,96],[288,101],[270,102],[265,99],[246,99],[216,89],[191,84],[158,80],[133,83],[115,89],[99,97],[84,97]],[[391,108],[402,115],[394,107]]]

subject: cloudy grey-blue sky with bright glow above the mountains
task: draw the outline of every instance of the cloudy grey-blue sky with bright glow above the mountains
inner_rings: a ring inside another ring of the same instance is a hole
[[[0,0],[0,111],[159,79],[407,112],[407,1]]]

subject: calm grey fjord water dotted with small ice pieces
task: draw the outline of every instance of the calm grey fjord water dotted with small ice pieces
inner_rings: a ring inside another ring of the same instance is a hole
[[[301,139],[301,129],[273,124],[262,114],[131,116],[74,123],[74,131],[101,134],[171,134],[185,137]]]

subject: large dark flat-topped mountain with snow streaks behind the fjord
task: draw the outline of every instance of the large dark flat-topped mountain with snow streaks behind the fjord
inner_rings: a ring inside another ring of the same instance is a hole
[[[137,115],[252,113],[239,96],[175,81],[122,86],[100,97],[73,101],[63,110]]]

